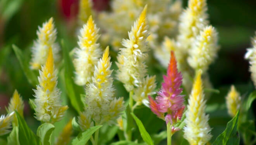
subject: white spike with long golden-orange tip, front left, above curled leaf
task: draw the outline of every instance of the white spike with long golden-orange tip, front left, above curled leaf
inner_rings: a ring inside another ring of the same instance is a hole
[[[67,106],[61,105],[61,91],[57,88],[57,70],[54,70],[52,48],[49,49],[47,61],[39,70],[39,85],[35,92],[35,118],[39,121],[54,123],[60,121]]]

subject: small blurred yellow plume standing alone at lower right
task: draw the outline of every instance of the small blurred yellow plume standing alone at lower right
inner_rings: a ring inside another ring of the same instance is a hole
[[[226,104],[228,108],[228,114],[231,117],[234,117],[237,114],[237,111],[240,109],[241,97],[239,92],[235,89],[235,86],[232,85],[228,95],[226,96]]]

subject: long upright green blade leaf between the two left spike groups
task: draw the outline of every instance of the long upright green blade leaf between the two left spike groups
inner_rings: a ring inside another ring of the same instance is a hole
[[[65,84],[66,84],[66,92],[69,96],[69,99],[71,101],[72,106],[76,111],[79,113],[83,110],[83,102],[80,98],[80,93],[83,91],[80,86],[77,86],[74,84],[74,80],[72,78],[74,74],[74,67],[73,63],[69,57],[69,52],[64,44],[64,41],[61,41],[62,43],[62,50],[63,50],[63,56],[64,56],[64,76],[65,76]]]

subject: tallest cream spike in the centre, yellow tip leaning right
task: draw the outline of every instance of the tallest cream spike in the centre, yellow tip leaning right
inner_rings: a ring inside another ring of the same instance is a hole
[[[129,39],[123,39],[123,46],[120,48],[118,59],[117,78],[120,80],[126,90],[130,92],[134,86],[141,85],[142,79],[146,76],[146,65],[144,63],[147,57],[147,5],[142,10],[140,17],[134,22],[131,31],[128,32]]]

